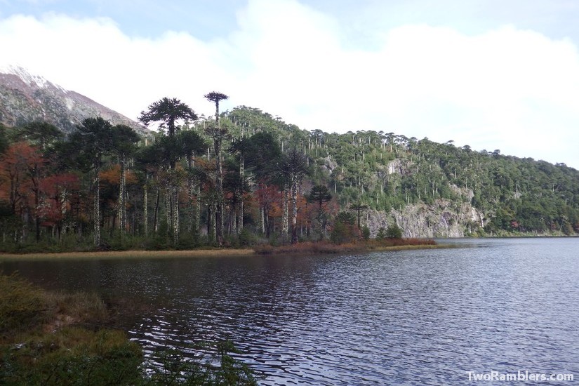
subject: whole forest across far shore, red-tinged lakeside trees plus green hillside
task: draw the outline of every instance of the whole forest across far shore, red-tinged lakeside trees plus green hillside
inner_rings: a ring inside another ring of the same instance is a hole
[[[472,207],[481,220],[458,224],[465,235],[579,232],[579,172],[564,164],[383,131],[305,131],[206,98],[215,117],[152,103],[140,121],[161,130],[147,138],[98,117],[67,135],[46,122],[0,126],[2,249],[340,241],[343,222],[374,237],[411,206]],[[371,224],[371,213],[387,220]]]

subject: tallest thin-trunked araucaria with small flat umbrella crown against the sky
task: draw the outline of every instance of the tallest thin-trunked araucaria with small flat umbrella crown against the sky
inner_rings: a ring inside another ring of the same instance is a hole
[[[223,138],[227,135],[227,127],[221,127],[219,123],[219,102],[229,97],[215,91],[204,96],[207,100],[215,103],[215,125],[213,127],[208,126],[208,134],[213,138],[213,148],[215,149],[215,193],[217,194],[215,231],[217,234],[217,242],[221,246],[223,244],[223,170],[221,144]]]

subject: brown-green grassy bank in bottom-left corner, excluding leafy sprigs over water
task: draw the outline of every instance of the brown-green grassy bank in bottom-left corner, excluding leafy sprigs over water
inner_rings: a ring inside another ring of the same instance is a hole
[[[123,385],[140,374],[140,347],[122,331],[88,329],[109,313],[98,296],[48,293],[0,274],[0,385]]]

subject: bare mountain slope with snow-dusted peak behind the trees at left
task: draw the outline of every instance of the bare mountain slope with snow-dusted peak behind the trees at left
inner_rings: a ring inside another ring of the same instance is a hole
[[[69,133],[89,117],[102,117],[112,124],[124,124],[143,135],[147,130],[137,122],[74,91],[66,90],[22,67],[0,67],[0,123],[22,126],[47,121]]]

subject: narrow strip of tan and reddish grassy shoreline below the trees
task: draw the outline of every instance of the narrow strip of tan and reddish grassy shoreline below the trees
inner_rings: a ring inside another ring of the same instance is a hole
[[[222,248],[222,249],[192,249],[184,251],[90,251],[90,252],[63,252],[63,253],[0,253],[0,262],[6,260],[44,260],[44,259],[84,259],[84,258],[211,258],[211,257],[239,257],[259,255],[342,255],[344,253],[370,253],[382,251],[406,251],[416,249],[457,248],[454,244],[434,245],[401,245],[373,248],[360,248],[357,251],[338,251],[336,253],[319,253],[317,251],[295,251],[295,253],[258,253],[253,248]]]

